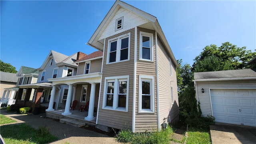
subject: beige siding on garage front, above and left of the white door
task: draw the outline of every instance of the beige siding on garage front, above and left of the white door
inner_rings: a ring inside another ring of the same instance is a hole
[[[200,102],[200,108],[203,116],[208,114],[212,115],[212,108],[210,103],[210,89],[256,89],[255,80],[226,80],[226,81],[207,81],[196,82],[198,101]],[[204,93],[202,93],[204,88]]]

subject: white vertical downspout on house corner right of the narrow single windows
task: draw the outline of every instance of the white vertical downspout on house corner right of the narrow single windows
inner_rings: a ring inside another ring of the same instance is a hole
[[[156,35],[156,98],[157,98],[157,129],[158,132],[160,132],[160,112],[159,112],[159,86],[158,86],[158,53],[157,53],[157,32],[155,32]]]

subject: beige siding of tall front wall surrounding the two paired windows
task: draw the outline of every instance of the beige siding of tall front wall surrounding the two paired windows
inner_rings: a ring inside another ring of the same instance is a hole
[[[106,64],[108,39],[116,36],[127,34],[130,32],[130,60],[124,62],[116,62],[113,64]],[[102,68],[102,85],[100,92],[100,104],[98,112],[98,124],[108,126],[111,128],[129,128],[132,129],[132,99],[133,99],[133,77],[134,77],[134,29],[122,32],[118,35],[106,38],[104,61]],[[104,80],[105,77],[112,76],[129,76],[129,96],[128,96],[128,112],[121,112],[117,110],[102,109],[103,94],[104,94]]]

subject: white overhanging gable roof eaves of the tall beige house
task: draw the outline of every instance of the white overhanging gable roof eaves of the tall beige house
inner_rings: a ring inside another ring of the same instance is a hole
[[[102,20],[90,40],[88,41],[88,45],[103,51],[104,48],[104,39],[99,39],[102,33],[104,32],[105,28],[110,23],[110,20],[115,16],[116,12],[120,9],[124,8],[130,12],[133,12],[136,15],[141,16],[142,18],[148,20],[149,22],[146,24],[142,24],[139,27],[141,28],[147,28],[151,30],[155,30],[158,33],[158,37],[162,40],[164,46],[166,47],[166,50],[168,51],[168,54],[170,55],[170,58],[172,59],[174,65],[178,67],[178,63],[174,57],[174,54],[172,53],[172,50],[166,40],[166,37],[164,36],[164,33],[162,31],[162,28],[160,24],[158,23],[158,20],[155,16],[152,16],[151,14],[148,14],[138,8],[135,8],[134,6],[131,6],[125,2],[122,2],[120,0],[116,0],[114,5],[110,8],[108,13],[106,14],[105,18]]]

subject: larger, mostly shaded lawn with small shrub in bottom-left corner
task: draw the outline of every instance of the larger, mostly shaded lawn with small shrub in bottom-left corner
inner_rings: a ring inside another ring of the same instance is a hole
[[[45,144],[58,140],[45,126],[36,130],[28,124],[1,126],[1,135],[6,144]]]

